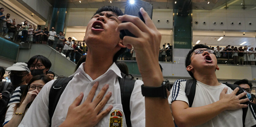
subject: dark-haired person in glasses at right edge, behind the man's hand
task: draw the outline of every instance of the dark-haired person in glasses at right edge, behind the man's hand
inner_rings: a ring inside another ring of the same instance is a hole
[[[244,91],[247,93],[247,97],[251,99],[251,90],[252,88],[252,83],[250,83],[247,79],[242,79],[236,81],[234,84],[239,85]],[[256,111],[256,104],[251,103],[252,108],[254,111]]]

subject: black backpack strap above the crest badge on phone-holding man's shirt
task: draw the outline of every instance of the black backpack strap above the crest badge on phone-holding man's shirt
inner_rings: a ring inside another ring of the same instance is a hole
[[[122,78],[118,77],[120,91],[121,91],[121,101],[123,106],[123,111],[125,115],[125,121],[127,127],[131,127],[131,111],[130,111],[130,98],[132,95],[132,90],[134,88],[135,81],[134,79],[130,78],[127,74],[121,72]],[[132,75],[131,75],[132,76]]]

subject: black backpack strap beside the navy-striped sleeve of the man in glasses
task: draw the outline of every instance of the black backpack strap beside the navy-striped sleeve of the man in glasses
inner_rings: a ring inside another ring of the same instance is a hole
[[[194,97],[196,94],[196,84],[197,84],[196,79],[189,79],[186,81],[185,93],[189,100],[189,107],[192,106],[194,101]]]

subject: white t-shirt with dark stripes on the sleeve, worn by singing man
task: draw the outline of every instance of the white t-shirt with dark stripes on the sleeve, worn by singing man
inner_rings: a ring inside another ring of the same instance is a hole
[[[169,104],[171,102],[179,100],[185,101],[189,104],[188,98],[185,94],[186,80],[178,79],[175,81],[172,90],[170,91],[170,96],[168,98]],[[225,84],[219,86],[209,86],[197,81],[196,93],[192,107],[201,107],[208,104],[212,104],[220,100],[220,93],[227,87],[227,94],[232,93],[232,89]],[[248,108],[246,114],[245,125],[246,127],[251,127],[256,125],[256,120],[254,119],[254,114],[251,112],[252,107]],[[196,127],[243,127],[243,110],[226,110],[212,118],[208,122],[198,125]]]

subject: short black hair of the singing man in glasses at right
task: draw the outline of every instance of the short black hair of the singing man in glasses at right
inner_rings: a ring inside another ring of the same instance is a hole
[[[197,44],[193,47],[193,49],[191,49],[189,51],[189,53],[187,54],[186,56],[186,60],[185,60],[185,66],[189,66],[190,65],[190,62],[191,62],[191,54],[193,53],[194,50],[198,49],[198,48],[207,48],[207,49],[210,49],[209,46],[207,45],[204,45],[204,44]],[[191,71],[188,71],[189,72],[189,75],[194,79],[195,77],[193,76],[193,73]]]

